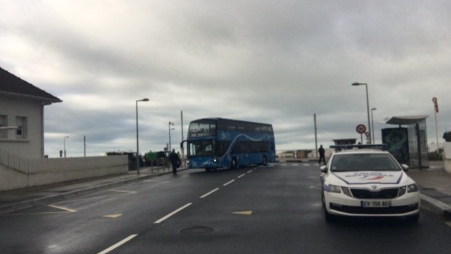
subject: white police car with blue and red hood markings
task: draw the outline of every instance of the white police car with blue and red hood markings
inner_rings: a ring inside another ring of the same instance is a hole
[[[330,146],[321,166],[322,203],[327,221],[337,216],[404,216],[419,218],[417,185],[383,145]]]

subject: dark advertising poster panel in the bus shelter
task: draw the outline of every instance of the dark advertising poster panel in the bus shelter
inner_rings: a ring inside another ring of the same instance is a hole
[[[382,142],[400,164],[409,164],[409,134],[407,128],[382,129]]]

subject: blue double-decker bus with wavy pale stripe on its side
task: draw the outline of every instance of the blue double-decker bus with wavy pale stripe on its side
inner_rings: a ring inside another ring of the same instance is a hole
[[[272,125],[226,118],[202,118],[189,124],[188,168],[238,168],[276,160]]]

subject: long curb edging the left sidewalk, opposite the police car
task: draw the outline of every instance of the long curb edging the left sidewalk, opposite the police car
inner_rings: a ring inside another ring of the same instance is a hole
[[[71,199],[75,196],[83,196],[83,195],[90,194],[93,192],[98,192],[100,190],[108,190],[110,188],[123,186],[127,183],[134,183],[136,181],[151,179],[151,178],[159,177],[160,175],[166,175],[169,173],[172,173],[172,172],[169,171],[169,172],[165,172],[165,173],[163,172],[163,173],[157,173],[157,174],[152,174],[152,175],[145,175],[145,176],[141,176],[141,177],[133,177],[130,179],[113,181],[111,183],[105,183],[105,184],[102,184],[99,186],[84,188],[84,189],[80,189],[80,190],[72,190],[69,192],[64,192],[62,194],[56,194],[56,195],[52,195],[52,196],[43,196],[38,199],[31,199],[31,200],[22,201],[19,203],[12,203],[10,205],[3,205],[0,207],[0,214],[9,214],[12,212],[19,212],[23,209],[36,207],[38,205],[49,205],[51,203],[63,201],[65,199]]]

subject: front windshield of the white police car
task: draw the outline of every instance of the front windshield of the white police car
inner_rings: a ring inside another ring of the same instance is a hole
[[[332,172],[345,171],[400,171],[393,157],[385,153],[346,153],[332,158]]]

